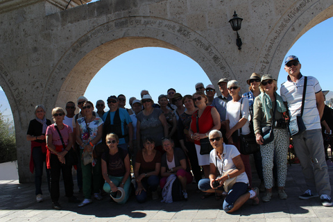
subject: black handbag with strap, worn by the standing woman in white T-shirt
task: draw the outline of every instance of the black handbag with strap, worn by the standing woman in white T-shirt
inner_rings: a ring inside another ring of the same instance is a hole
[[[243,98],[241,99],[241,104],[243,103]],[[241,106],[239,108],[239,119],[241,119]],[[241,128],[239,129],[241,133]],[[243,155],[249,155],[252,153],[257,153],[260,150],[260,146],[257,144],[254,133],[249,133],[247,135],[241,135],[241,147],[239,152]]]

